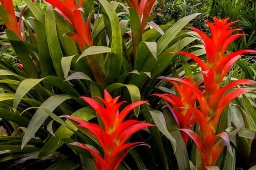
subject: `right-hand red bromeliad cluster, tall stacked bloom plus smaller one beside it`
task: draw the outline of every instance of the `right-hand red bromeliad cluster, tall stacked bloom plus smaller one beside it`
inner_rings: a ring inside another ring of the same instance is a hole
[[[178,54],[185,54],[198,63],[204,78],[204,91],[201,91],[196,86],[196,83],[192,84],[186,79],[160,77],[160,79],[172,83],[177,89],[179,96],[173,94],[156,94],[165,99],[166,102],[172,106],[175,116],[180,117],[182,115],[183,117],[188,118],[178,119],[178,124],[180,124],[181,121],[183,124],[188,125],[188,121],[191,120],[192,115],[194,116],[194,119],[197,120],[200,127],[199,135],[193,132],[191,127],[181,129],[181,131],[189,135],[198,147],[198,150],[201,153],[203,168],[215,166],[218,156],[225,146],[223,142],[216,142],[218,137],[221,137],[224,140],[228,146],[228,150],[232,153],[228,134],[226,132],[216,134],[218,122],[224,108],[230,101],[241,94],[256,90],[256,88],[237,88],[233,91],[231,90],[231,88],[237,85],[256,85],[255,81],[249,79],[235,80],[221,88],[221,84],[227,71],[239,58],[241,58],[239,54],[256,53],[256,51],[240,50],[231,54],[225,54],[230,43],[243,34],[230,35],[239,29],[229,29],[229,27],[235,23],[227,23],[229,18],[224,20],[218,20],[217,18],[213,19],[215,24],[207,22],[211,31],[211,37],[208,37],[204,32],[196,28],[190,28],[200,35],[201,42],[204,44],[206,50],[207,62],[204,62],[194,54],[183,51],[177,52]],[[178,86],[175,81],[180,82],[182,85]],[[186,88],[184,89],[184,87]],[[231,91],[228,92],[229,90]],[[188,94],[188,96],[186,97],[188,98],[185,97],[185,92],[187,92],[186,95]],[[195,96],[198,100],[200,109],[194,107],[195,99],[193,99],[193,97]],[[190,100],[192,100],[192,102],[190,102]],[[183,125],[180,127],[183,128]],[[184,138],[184,140],[187,142],[186,138]]]

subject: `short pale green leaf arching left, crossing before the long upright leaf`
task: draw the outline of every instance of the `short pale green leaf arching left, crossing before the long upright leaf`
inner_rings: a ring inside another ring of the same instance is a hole
[[[111,48],[105,47],[105,46],[92,46],[92,47],[89,47],[89,48],[87,48],[86,50],[84,50],[82,52],[82,54],[78,57],[76,62],[78,62],[79,59],[81,59],[83,57],[94,55],[94,54],[102,54],[102,53],[111,53]]]

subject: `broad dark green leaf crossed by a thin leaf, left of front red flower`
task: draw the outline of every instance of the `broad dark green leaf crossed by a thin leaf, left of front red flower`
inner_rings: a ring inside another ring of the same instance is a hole
[[[73,113],[72,116],[88,121],[95,117],[95,113],[93,109],[87,107],[79,109],[78,111]],[[73,130],[78,130],[78,128],[75,125],[73,125],[73,123],[71,123],[70,120],[66,120],[65,122],[67,123],[67,125],[72,127]],[[64,144],[62,139],[70,138],[73,134],[74,132],[72,130],[68,129],[64,125],[61,125],[61,127],[59,127],[58,130],[56,130],[55,136],[52,136],[47,141],[47,143],[44,144],[44,147],[40,150],[38,157],[41,158],[53,153],[55,150],[61,147],[62,144]]]

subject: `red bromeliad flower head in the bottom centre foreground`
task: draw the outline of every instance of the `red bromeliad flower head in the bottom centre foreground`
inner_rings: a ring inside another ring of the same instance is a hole
[[[128,154],[128,150],[123,152],[124,150],[137,145],[146,145],[144,142],[125,142],[133,133],[152,125],[137,120],[124,121],[129,112],[135,107],[145,104],[146,101],[133,102],[119,113],[119,107],[123,104],[123,102],[117,102],[119,96],[113,99],[107,91],[104,92],[104,99],[99,99],[102,100],[105,107],[92,98],[81,97],[99,115],[104,124],[104,130],[97,124],[85,122],[73,116],[66,116],[66,118],[76,122],[79,127],[88,129],[102,147],[104,156],[95,147],[77,142],[72,143],[88,150],[92,154],[97,170],[117,170],[119,164]]]

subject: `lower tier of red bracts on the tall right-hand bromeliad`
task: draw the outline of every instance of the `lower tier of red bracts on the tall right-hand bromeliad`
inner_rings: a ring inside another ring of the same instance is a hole
[[[198,108],[193,107],[186,109],[189,111],[187,111],[187,113],[192,113],[195,116],[196,120],[198,121],[200,126],[200,136],[194,133],[190,128],[182,128],[180,130],[183,133],[189,135],[197,145],[198,150],[201,153],[203,165],[214,166],[215,162],[218,159],[218,156],[220,155],[221,151],[225,146],[222,143],[218,142],[215,144],[216,139],[218,137],[221,137],[226,143],[226,145],[228,147],[230,146],[229,138],[226,132],[222,132],[220,134],[215,135],[218,126],[218,121],[223,109],[229,104],[230,101],[232,101],[236,97],[246,92],[255,91],[256,88],[237,88],[236,90],[233,90],[227,93],[226,95],[224,95],[224,93],[236,85],[256,85],[256,82],[249,79],[233,81],[229,85],[226,85],[225,87],[215,91],[215,94],[210,96],[209,100],[207,100],[207,97],[205,96],[204,92],[201,92],[200,89],[195,84],[191,84],[190,82],[180,78],[159,78],[171,83],[173,83],[174,81],[181,82],[183,85],[186,85],[187,91],[190,91],[188,92],[188,94],[195,94],[200,104],[201,110],[198,110]],[[173,99],[175,98],[173,97]],[[169,102],[168,100],[166,101]],[[212,112],[214,112],[213,115],[210,114]]]

